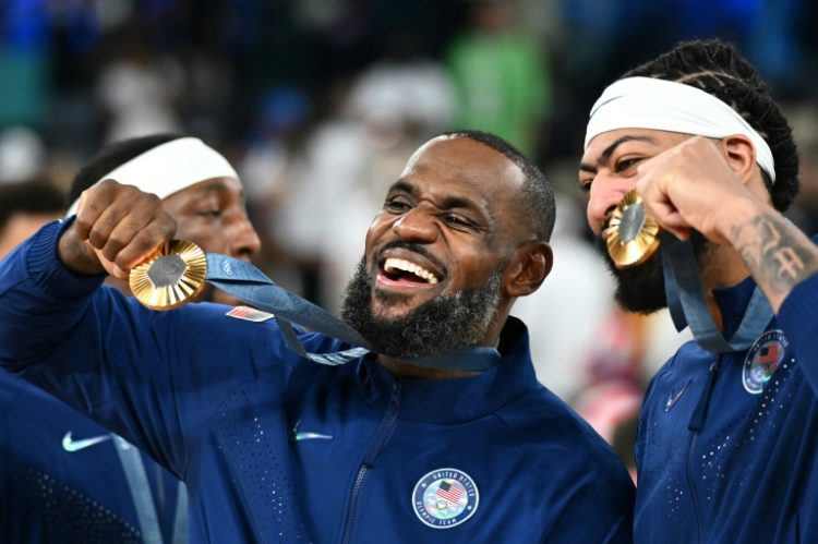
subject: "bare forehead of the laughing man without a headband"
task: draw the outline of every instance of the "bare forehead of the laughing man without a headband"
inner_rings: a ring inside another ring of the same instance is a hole
[[[515,194],[524,182],[512,159],[469,137],[441,136],[411,156],[401,178],[426,191],[467,193],[477,198]]]

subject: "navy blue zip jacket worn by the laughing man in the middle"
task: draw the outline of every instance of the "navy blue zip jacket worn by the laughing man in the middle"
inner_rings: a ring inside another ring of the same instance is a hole
[[[624,467],[537,383],[520,322],[503,331],[503,361],[473,377],[396,380],[372,355],[318,365],[273,319],[151,312],[71,275],[58,230],[0,264],[0,362],[180,474],[192,542],[630,541]],[[299,336],[313,352],[345,348]],[[479,489],[448,529],[414,510],[437,469]]]

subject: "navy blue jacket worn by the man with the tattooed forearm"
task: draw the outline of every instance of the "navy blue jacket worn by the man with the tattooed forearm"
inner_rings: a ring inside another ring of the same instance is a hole
[[[754,289],[747,279],[715,291],[725,335]],[[813,277],[760,343],[713,353],[691,341],[654,376],[637,440],[636,542],[818,542],[817,334]],[[784,354],[759,392],[748,392],[746,363],[771,338]]]

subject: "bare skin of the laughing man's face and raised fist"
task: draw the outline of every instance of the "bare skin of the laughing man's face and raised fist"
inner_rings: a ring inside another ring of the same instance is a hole
[[[496,346],[516,298],[536,291],[552,265],[551,247],[520,220],[522,181],[520,169],[503,154],[467,137],[441,136],[418,149],[366,233],[374,313],[405,314],[433,297],[481,286],[502,267],[501,299],[478,342]],[[59,244],[70,269],[123,277],[173,238],[177,222],[155,196],[112,181],[86,193],[77,220]],[[395,241],[419,244],[424,255],[384,249]],[[383,270],[387,257],[422,268],[436,282],[389,280]],[[377,360],[400,377],[464,375],[384,355]]]

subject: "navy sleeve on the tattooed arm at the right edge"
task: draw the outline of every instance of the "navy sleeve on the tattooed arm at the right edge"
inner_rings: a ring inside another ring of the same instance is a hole
[[[818,396],[818,275],[790,292],[779,310],[778,324],[792,342],[792,353]]]

